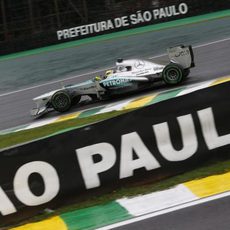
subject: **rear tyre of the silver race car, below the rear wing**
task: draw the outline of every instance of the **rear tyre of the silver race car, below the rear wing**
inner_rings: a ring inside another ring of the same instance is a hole
[[[177,85],[184,78],[184,69],[180,65],[170,63],[163,69],[162,77],[166,84]]]

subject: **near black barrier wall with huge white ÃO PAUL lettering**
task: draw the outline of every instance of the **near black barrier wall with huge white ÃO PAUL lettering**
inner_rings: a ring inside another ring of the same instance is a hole
[[[0,152],[0,223],[230,151],[230,83]]]

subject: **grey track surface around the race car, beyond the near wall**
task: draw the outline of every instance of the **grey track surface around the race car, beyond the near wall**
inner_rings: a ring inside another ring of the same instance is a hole
[[[153,60],[156,62],[167,62],[167,56],[162,55],[167,47],[191,44],[194,46],[196,67],[184,84],[230,75],[229,25],[230,18],[226,17],[1,61],[0,130],[31,123],[33,119],[29,111],[33,107],[32,98],[60,88],[61,82],[78,83],[102,74],[106,68],[113,66],[118,57],[155,56]],[[65,79],[61,79],[63,76]],[[167,87],[156,91],[165,89]],[[77,106],[71,112],[109,103],[111,101]],[[54,112],[47,117],[57,115]]]

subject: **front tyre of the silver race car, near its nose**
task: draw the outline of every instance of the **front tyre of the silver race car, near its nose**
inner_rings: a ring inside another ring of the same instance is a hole
[[[72,105],[71,97],[66,91],[57,91],[51,98],[53,108],[60,112],[66,112]]]

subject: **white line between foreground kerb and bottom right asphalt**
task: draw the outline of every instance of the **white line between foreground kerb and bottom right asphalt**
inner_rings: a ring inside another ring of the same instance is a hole
[[[125,225],[128,225],[128,224],[132,224],[132,223],[135,223],[135,222],[139,222],[139,221],[142,221],[142,220],[146,220],[146,219],[149,219],[149,218],[153,218],[153,217],[156,217],[156,216],[167,214],[167,213],[170,213],[170,212],[174,212],[174,211],[177,211],[177,210],[180,210],[180,209],[184,209],[184,208],[188,208],[188,207],[191,207],[191,206],[207,203],[207,202],[213,201],[213,200],[218,200],[218,199],[221,199],[221,198],[224,198],[224,197],[227,197],[227,196],[230,196],[230,192],[225,192],[225,193],[217,194],[217,195],[210,196],[210,197],[207,197],[207,198],[199,199],[199,200],[196,200],[196,201],[191,201],[191,202],[181,204],[181,205],[177,205],[177,206],[167,208],[167,209],[164,209],[164,210],[161,210],[161,211],[153,212],[153,213],[150,213],[150,214],[147,214],[147,215],[132,218],[130,220],[125,220],[125,221],[122,221],[122,222],[119,222],[119,223],[115,223],[115,224],[111,224],[111,225],[108,225],[108,226],[105,226],[105,227],[102,227],[102,228],[98,228],[97,230],[109,230],[109,229],[118,228],[118,227],[121,227],[121,226],[125,226]]]

